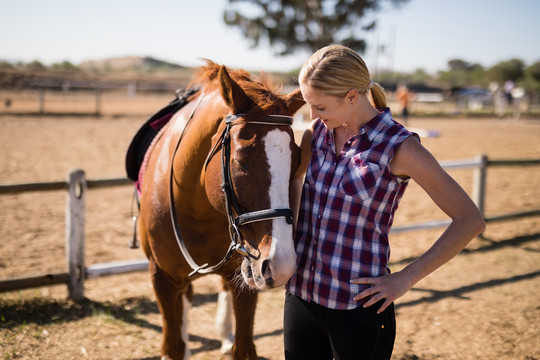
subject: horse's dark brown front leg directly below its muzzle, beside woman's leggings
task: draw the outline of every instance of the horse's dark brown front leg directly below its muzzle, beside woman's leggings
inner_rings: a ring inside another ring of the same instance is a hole
[[[236,336],[232,349],[235,360],[258,359],[253,342],[253,323],[257,306],[257,292],[231,284],[234,314],[236,319]]]

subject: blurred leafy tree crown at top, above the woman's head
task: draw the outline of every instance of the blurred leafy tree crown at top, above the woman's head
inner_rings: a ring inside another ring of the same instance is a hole
[[[314,52],[331,43],[363,52],[366,42],[357,34],[373,30],[376,22],[362,22],[362,18],[379,10],[384,2],[399,6],[408,1],[229,0],[231,7],[225,10],[224,20],[239,27],[252,47],[266,39],[278,55]]]

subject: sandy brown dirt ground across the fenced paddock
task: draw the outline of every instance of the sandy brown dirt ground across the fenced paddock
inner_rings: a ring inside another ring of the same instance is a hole
[[[0,183],[56,181],[72,168],[89,179],[124,176],[124,154],[144,121],[137,117],[0,117]],[[413,118],[436,130],[423,144],[439,160],[540,158],[540,121]],[[449,170],[472,193],[473,169]],[[535,210],[538,166],[490,168],[486,216]],[[139,259],[130,250],[129,186],[90,190],[86,263]],[[65,193],[0,195],[0,278],[62,272]],[[445,219],[411,184],[395,226]],[[392,269],[425,251],[441,229],[391,236]],[[197,280],[190,312],[192,358],[217,359],[215,276]],[[159,359],[161,318],[146,272],[85,282],[86,300],[63,285],[0,293],[2,359]],[[261,292],[255,343],[261,359],[283,359],[283,289]],[[489,223],[469,246],[397,301],[393,359],[540,359],[540,218]]]

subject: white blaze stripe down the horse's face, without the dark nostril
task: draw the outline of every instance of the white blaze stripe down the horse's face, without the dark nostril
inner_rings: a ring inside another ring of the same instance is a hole
[[[264,138],[266,157],[270,167],[270,207],[289,208],[289,179],[291,175],[291,137],[281,130],[272,130]],[[269,259],[272,277],[277,286],[283,285],[293,273],[296,255],[292,225],[285,219],[272,220],[272,247]]]

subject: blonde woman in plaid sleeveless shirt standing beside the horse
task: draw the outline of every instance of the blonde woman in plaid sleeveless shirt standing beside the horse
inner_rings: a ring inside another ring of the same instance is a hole
[[[485,224],[416,134],[392,119],[383,89],[357,53],[339,45],[317,51],[299,83],[314,120],[292,190],[297,270],[286,286],[285,356],[390,359],[394,300]],[[409,179],[452,223],[421,257],[390,274],[388,233]]]

